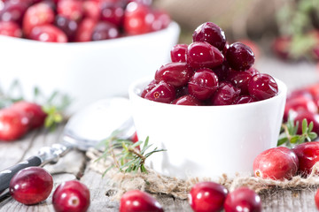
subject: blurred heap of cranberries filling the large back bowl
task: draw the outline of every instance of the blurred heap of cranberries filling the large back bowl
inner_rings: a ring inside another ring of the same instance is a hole
[[[167,12],[152,8],[152,0],[0,0],[0,34],[41,42],[145,34],[170,21]]]

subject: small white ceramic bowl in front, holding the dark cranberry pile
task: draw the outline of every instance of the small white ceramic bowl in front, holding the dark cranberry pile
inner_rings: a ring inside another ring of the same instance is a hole
[[[129,87],[139,139],[150,137],[166,152],[150,157],[159,173],[177,177],[211,177],[222,173],[252,173],[253,160],[276,147],[287,88],[278,79],[279,93],[261,102],[229,106],[183,106],[140,97],[151,79]]]

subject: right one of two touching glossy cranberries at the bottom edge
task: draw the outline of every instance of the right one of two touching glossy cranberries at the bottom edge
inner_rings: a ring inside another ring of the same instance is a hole
[[[239,187],[227,195],[224,209],[225,212],[260,212],[261,197],[252,189]]]

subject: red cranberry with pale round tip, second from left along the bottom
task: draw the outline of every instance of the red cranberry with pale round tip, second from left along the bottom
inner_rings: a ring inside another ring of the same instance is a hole
[[[89,208],[89,189],[78,180],[66,181],[54,191],[52,204],[56,212],[85,212]]]

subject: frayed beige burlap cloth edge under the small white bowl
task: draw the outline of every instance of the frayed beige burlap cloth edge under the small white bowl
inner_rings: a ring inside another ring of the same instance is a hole
[[[112,160],[101,159],[97,160],[102,153],[94,148],[90,148],[86,154],[89,159],[89,168],[95,170],[98,173],[103,174],[111,164]],[[123,173],[113,168],[105,173],[105,177],[110,179],[113,184],[114,199],[120,199],[123,193],[127,191],[139,189],[149,193],[166,193],[173,195],[175,198],[187,199],[187,195],[191,190],[191,187],[201,181],[210,181],[212,178],[171,178],[160,175],[155,170],[147,168],[148,173]],[[255,192],[260,193],[269,188],[296,188],[296,187],[309,187],[319,185],[319,163],[315,163],[315,166],[311,174],[307,178],[301,178],[295,176],[288,180],[272,180],[255,178],[247,176],[246,174],[237,173],[234,177],[230,177],[223,174],[218,180],[214,180],[217,183],[225,186],[229,191],[233,191],[237,187],[246,186],[253,189]]]

